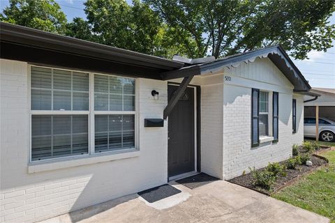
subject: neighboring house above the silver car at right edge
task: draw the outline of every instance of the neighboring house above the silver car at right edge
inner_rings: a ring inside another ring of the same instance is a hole
[[[304,103],[304,116],[315,117],[315,106],[318,105],[319,117],[335,120],[335,89],[313,88],[311,93],[320,96],[313,100],[315,97],[305,95],[304,100],[311,101]]]

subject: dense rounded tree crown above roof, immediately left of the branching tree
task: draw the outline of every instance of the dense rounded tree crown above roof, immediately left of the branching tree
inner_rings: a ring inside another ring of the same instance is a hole
[[[134,0],[130,6],[124,0],[88,0],[84,4],[99,43],[144,54],[156,54],[161,48],[162,22],[146,3]]]

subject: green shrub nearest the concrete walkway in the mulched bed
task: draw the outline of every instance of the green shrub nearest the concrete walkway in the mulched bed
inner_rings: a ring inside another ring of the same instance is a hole
[[[271,187],[276,183],[276,176],[270,171],[265,170],[255,170],[251,169],[251,176],[253,176],[253,185],[263,187],[270,190]]]

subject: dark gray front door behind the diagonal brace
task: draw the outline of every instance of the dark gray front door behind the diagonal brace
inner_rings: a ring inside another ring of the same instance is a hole
[[[168,100],[178,86],[168,85]],[[194,89],[188,87],[168,118],[168,176],[195,170]]]

